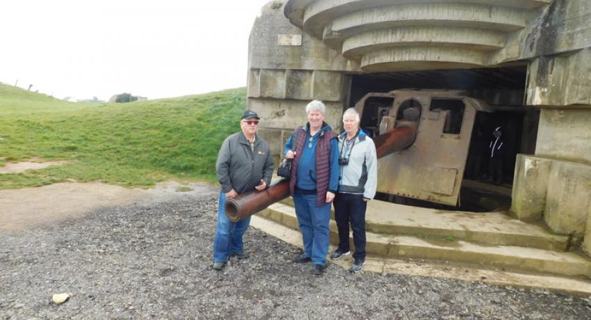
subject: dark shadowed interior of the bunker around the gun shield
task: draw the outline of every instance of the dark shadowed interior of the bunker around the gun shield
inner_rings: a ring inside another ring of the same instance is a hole
[[[511,188],[517,154],[534,154],[539,109],[524,106],[526,101],[525,65],[469,70],[432,70],[350,75],[348,106],[355,106],[368,93],[387,93],[400,89],[462,90],[467,97],[480,99],[492,113],[478,112],[472,129],[458,206],[451,207],[399,195],[378,193],[376,198],[405,205],[460,211],[502,211],[510,208]],[[392,106],[391,97],[366,100],[361,127],[371,135],[379,134],[381,118]],[[404,102],[403,111],[418,102]],[[444,134],[458,134],[462,127],[464,104],[458,100],[432,99],[429,110],[448,112]],[[500,131],[497,139],[494,131]],[[495,152],[491,147],[494,143]],[[501,145],[502,143],[502,145]],[[500,147],[499,147],[500,145]],[[454,150],[449,150],[454,152]],[[499,158],[501,154],[501,160]],[[491,153],[494,159],[491,157]]]

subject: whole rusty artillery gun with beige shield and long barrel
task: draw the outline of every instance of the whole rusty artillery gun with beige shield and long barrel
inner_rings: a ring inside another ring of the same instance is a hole
[[[492,112],[485,102],[460,90],[394,90],[368,93],[355,109],[373,135],[378,192],[458,204],[476,113]],[[239,221],[288,196],[289,180],[282,179],[227,200],[226,214]]]

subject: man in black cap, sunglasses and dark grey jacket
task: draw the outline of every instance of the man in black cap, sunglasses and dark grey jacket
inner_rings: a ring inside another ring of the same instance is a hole
[[[271,182],[273,158],[269,145],[257,135],[259,115],[244,111],[240,122],[241,131],[225,139],[220,147],[216,173],[222,186],[218,204],[218,226],[213,240],[213,269],[222,270],[231,256],[245,259],[242,237],[250,223],[250,216],[233,223],[226,216],[226,199],[240,193],[263,191]]]

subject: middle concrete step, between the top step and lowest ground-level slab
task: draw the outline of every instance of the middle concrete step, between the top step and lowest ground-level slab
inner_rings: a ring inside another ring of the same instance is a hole
[[[293,230],[298,230],[295,210],[289,205],[276,203],[258,215]],[[334,221],[330,221],[330,230],[331,241],[336,243],[337,225]],[[522,246],[489,246],[457,239],[434,239],[428,236],[421,238],[408,235],[378,234],[373,231],[367,232],[366,236],[366,251],[381,257],[434,259],[478,264],[503,270],[591,278],[591,262],[575,253]]]

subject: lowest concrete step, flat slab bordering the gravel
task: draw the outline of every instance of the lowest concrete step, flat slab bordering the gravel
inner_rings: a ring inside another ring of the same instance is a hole
[[[280,223],[262,218],[259,215],[252,217],[250,225],[293,246],[302,247],[302,235],[298,230],[293,230]],[[517,273],[457,264],[437,264],[421,259],[408,260],[368,255],[366,257],[367,263],[362,272],[375,272],[382,275],[394,273],[422,277],[452,278],[463,281],[485,282],[490,285],[511,285],[513,287],[527,289],[547,289],[549,291],[566,292],[584,297],[591,295],[591,281],[589,279]],[[353,263],[350,255],[343,259],[328,259],[328,261],[345,269],[348,269]]]

